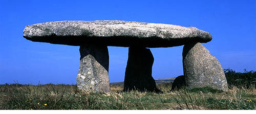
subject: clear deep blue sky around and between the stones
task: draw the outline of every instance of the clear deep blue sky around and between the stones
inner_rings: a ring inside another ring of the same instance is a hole
[[[255,71],[255,1],[1,1],[0,84],[76,84],[79,47],[32,42],[26,25],[60,20],[126,20],[197,27],[223,69]],[[124,80],[128,48],[108,47],[110,82]],[[183,75],[182,48],[151,49],[154,78]]]

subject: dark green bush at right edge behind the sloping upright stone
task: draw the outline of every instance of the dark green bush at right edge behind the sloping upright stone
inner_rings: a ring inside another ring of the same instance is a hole
[[[230,69],[224,69],[224,73],[227,79],[228,85],[234,85],[237,87],[246,87],[251,86],[256,87],[256,72],[255,71],[246,71],[244,73],[236,73],[236,71]]]

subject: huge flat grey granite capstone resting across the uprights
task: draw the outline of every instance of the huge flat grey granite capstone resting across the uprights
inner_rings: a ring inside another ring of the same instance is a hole
[[[175,47],[208,42],[208,32],[195,27],[121,20],[55,21],[26,26],[26,39],[54,44],[99,44],[117,47]]]

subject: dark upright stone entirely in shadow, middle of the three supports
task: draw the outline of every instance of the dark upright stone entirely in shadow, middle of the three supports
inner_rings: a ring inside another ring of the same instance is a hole
[[[150,49],[142,47],[129,48],[124,77],[124,91],[136,89],[140,91],[157,91],[152,77],[154,57]]]

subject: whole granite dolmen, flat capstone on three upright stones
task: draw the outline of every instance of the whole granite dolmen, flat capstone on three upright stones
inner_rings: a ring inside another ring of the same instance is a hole
[[[77,87],[110,92],[108,46],[129,47],[123,90],[156,91],[153,54],[148,48],[184,45],[183,71],[188,88],[210,86],[227,90],[220,62],[201,44],[212,36],[195,27],[121,20],[54,21],[26,26],[28,40],[80,46]],[[172,53],[172,52],[166,52]]]

